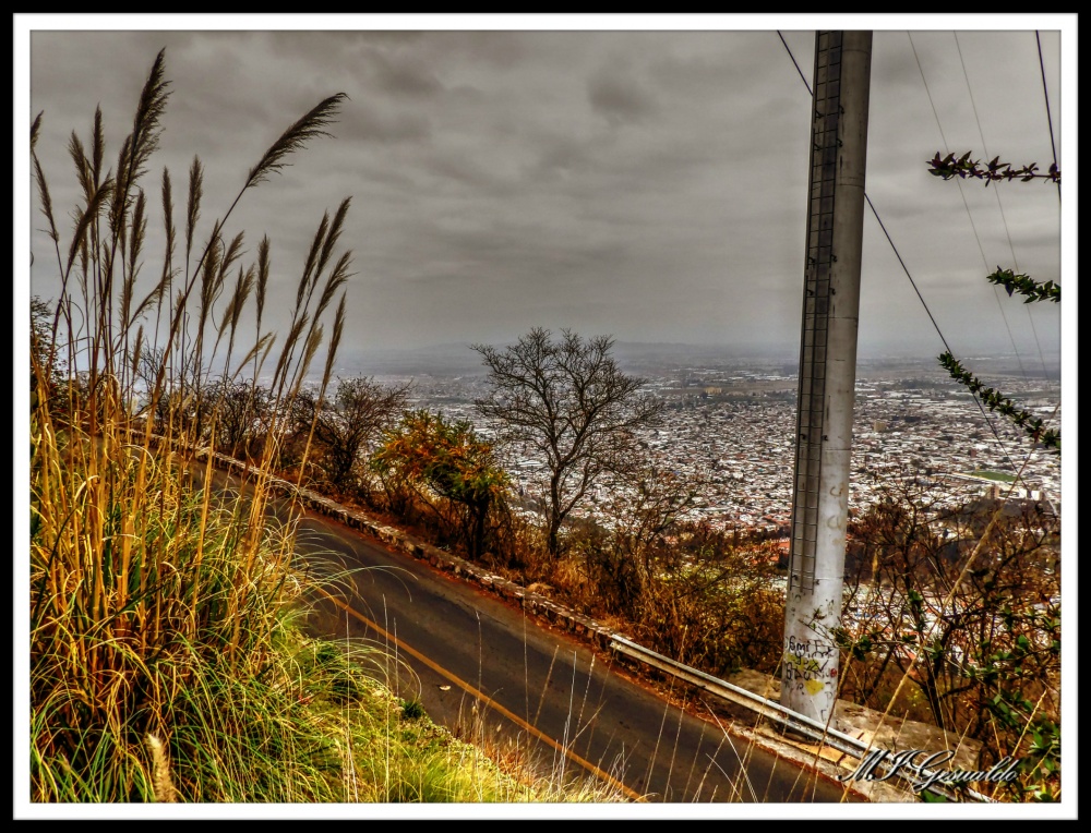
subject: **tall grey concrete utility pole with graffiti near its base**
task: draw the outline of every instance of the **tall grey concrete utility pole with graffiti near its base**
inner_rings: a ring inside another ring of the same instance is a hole
[[[781,703],[837,700],[864,222],[871,32],[815,35],[807,261]],[[832,725],[832,723],[830,723]]]

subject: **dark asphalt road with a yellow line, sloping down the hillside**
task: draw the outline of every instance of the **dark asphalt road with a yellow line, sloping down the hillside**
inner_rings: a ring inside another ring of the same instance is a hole
[[[391,688],[467,740],[517,746],[543,773],[632,799],[843,800],[840,785],[668,704],[568,635],[337,521],[308,512],[297,551],[348,571],[311,626],[381,649]]]

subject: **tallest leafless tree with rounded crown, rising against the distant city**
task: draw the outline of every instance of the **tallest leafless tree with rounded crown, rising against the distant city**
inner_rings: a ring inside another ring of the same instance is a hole
[[[547,547],[561,551],[561,526],[591,486],[634,459],[634,432],[657,423],[662,402],[640,396],[644,379],[621,372],[613,339],[553,340],[537,327],[505,350],[475,345],[489,369],[490,396],[477,400],[506,442],[528,445],[546,463]]]

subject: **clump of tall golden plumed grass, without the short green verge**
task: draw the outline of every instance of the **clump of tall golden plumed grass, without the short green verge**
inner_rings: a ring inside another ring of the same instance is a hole
[[[269,243],[263,240],[256,263],[243,267],[243,236],[226,238],[231,212],[290,154],[326,135],[344,95],[320,102],[269,146],[203,245],[201,162],[194,159],[189,172],[181,228],[164,170],[163,264],[154,283],[142,288],[151,214],[144,181],[168,98],[160,52],[111,169],[100,112],[89,152],[73,132],[69,154],[83,202],[67,239],[34,153],[41,116],[32,129],[34,176],[60,285],[55,304],[39,305],[45,319],[32,334],[36,800],[148,800],[165,794],[168,766],[171,795],[231,797],[223,784],[211,788],[202,768],[215,761],[208,772],[217,782],[241,775],[232,773],[242,769],[239,762],[220,759],[240,738],[254,748],[248,737],[254,725],[242,715],[254,711],[247,700],[260,681],[289,673],[277,644],[290,640],[286,612],[301,584],[290,526],[265,520],[267,479],[257,472],[249,503],[221,505],[213,490],[193,488],[191,476],[194,449],[215,431],[218,415],[219,403],[204,393],[216,389],[212,369],[225,377],[243,369],[256,374],[276,343],[262,330]],[[298,391],[334,313],[328,377],[345,317],[350,256],[334,259],[333,253],[347,207],[345,201],[332,221],[323,218],[291,331],[272,357],[281,403]],[[241,312],[252,302],[257,331],[240,355]],[[254,716],[271,708],[265,700]]]

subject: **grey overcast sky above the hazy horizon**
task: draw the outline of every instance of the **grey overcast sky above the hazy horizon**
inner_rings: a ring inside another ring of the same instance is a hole
[[[1024,26],[1006,32],[997,19],[923,17],[911,33],[875,32],[866,190],[959,355],[1018,349],[1036,361],[1040,348],[1059,349],[1056,305],[1026,306],[984,280],[997,265],[1060,276],[1056,188],[960,190],[928,176],[926,160],[973,150],[1047,169],[1034,29],[1059,157],[1057,29],[1070,19],[1003,19]],[[180,222],[187,170],[201,158],[206,236],[286,126],[328,95],[349,96],[335,137],[314,141],[283,176],[248,192],[228,226],[229,236],[245,230],[248,261],[271,238],[273,310],[288,309],[323,212],[350,196],[341,241],[353,251],[352,347],[502,342],[546,326],[798,352],[811,106],[776,29],[810,82],[814,29],[805,26],[819,21],[721,16],[711,19],[718,31],[709,19],[693,19],[690,31],[623,31],[649,21],[608,16],[596,25],[615,21],[614,31],[383,32],[406,24],[380,15],[340,21],[345,31],[271,32],[262,29],[285,22],[232,20],[253,31],[179,27],[204,17],[173,20],[168,31],[46,31],[85,22],[36,19],[28,111],[45,113],[37,149],[60,217],[77,198],[71,132],[89,145],[100,105],[107,159],[116,160],[165,47],[171,97],[144,180],[152,240],[164,167]],[[412,20],[430,27],[428,17]],[[1072,168],[1062,160],[1062,169],[1071,188]],[[41,228],[36,201],[32,212],[33,229]],[[938,354],[939,338],[870,213],[864,239],[861,354]],[[56,257],[43,233],[32,241],[32,291],[55,297]],[[148,280],[158,275],[156,246],[145,257]]]

